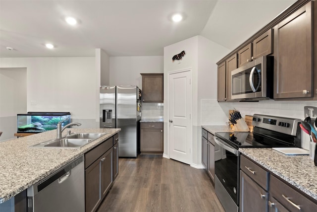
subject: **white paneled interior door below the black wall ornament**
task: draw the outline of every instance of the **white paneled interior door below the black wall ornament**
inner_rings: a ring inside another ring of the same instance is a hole
[[[190,71],[169,74],[169,157],[191,164]]]

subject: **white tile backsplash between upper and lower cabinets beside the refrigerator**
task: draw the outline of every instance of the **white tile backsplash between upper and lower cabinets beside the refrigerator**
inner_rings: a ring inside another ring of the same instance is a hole
[[[163,118],[163,103],[143,102],[142,103],[142,119],[162,119]]]

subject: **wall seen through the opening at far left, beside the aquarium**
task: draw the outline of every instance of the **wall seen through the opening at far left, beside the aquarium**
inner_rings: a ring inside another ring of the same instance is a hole
[[[17,116],[26,113],[26,68],[0,68],[0,141],[13,139]]]

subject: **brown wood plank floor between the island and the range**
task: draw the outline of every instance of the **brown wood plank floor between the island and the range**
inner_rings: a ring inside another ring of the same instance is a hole
[[[224,212],[207,172],[162,155],[119,158],[98,212]]]

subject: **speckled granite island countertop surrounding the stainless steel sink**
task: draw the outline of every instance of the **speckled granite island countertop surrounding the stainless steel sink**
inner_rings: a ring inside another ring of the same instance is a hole
[[[56,130],[0,142],[0,204],[47,177],[68,162],[112,137],[120,129],[71,128],[72,133],[106,133],[85,146],[74,148],[29,148],[56,138]],[[66,134],[66,130],[63,135]]]

